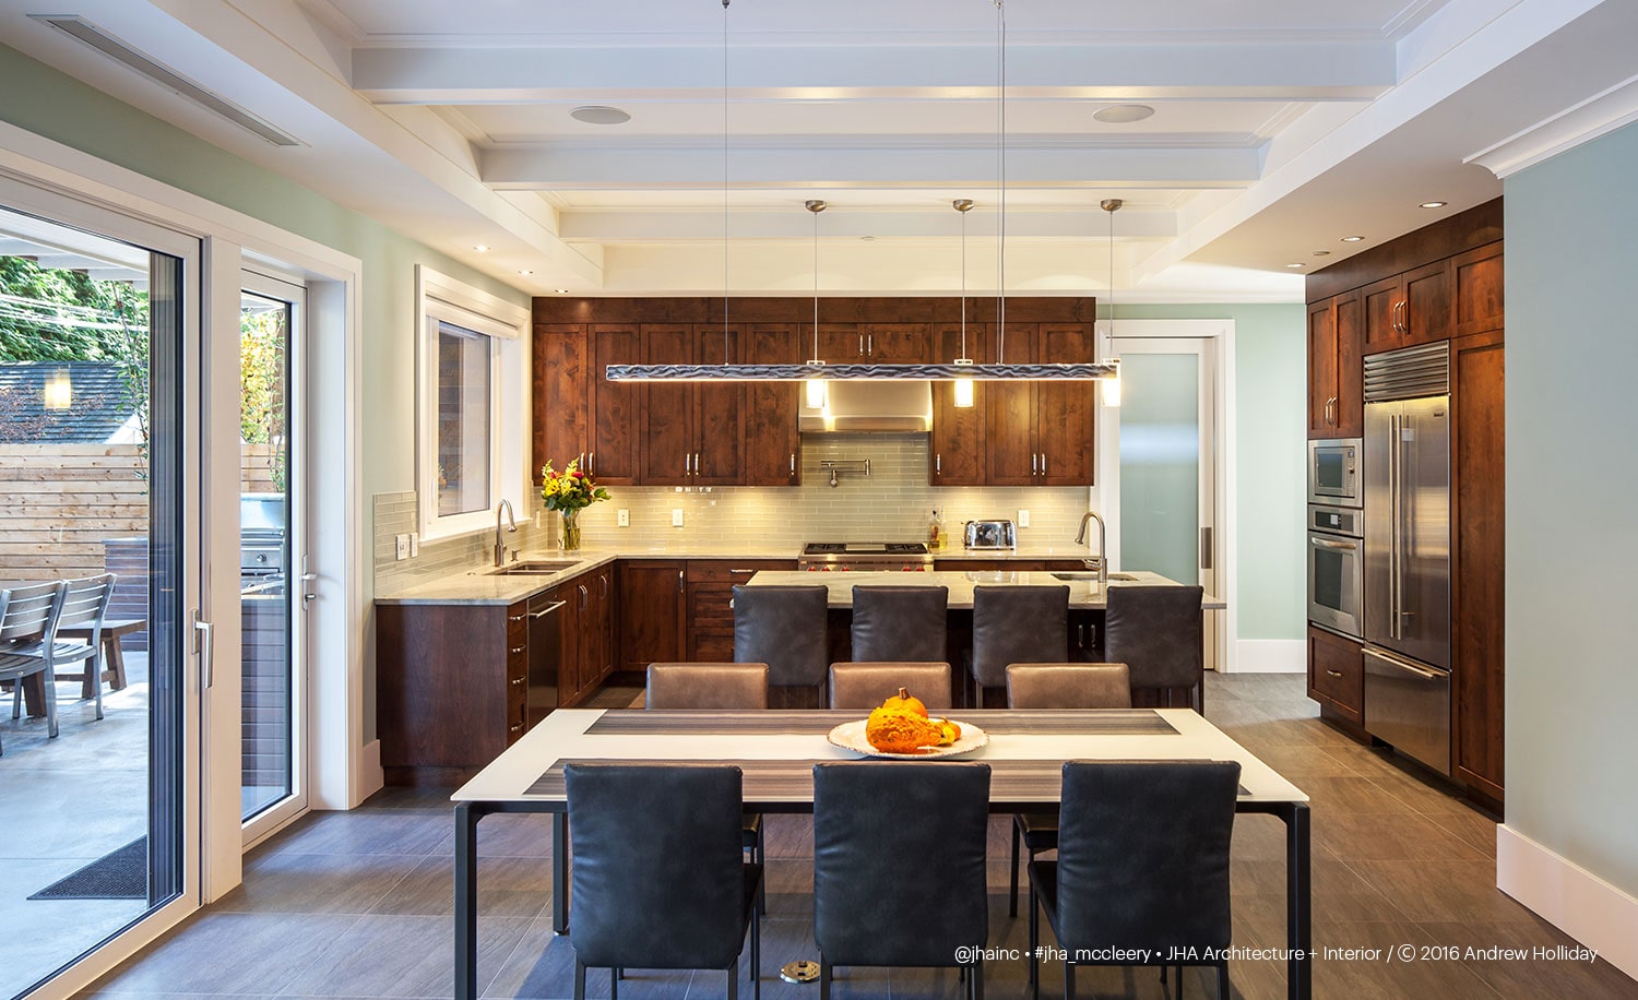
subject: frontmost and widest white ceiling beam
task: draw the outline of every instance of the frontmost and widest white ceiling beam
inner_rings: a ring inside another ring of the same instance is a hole
[[[839,85],[845,80],[845,85]],[[740,100],[983,97],[994,46],[729,46]],[[1394,46],[1353,43],[1034,44],[1007,49],[1017,97],[1369,100],[1396,82]],[[722,93],[719,44],[519,49],[360,47],[352,87],[377,103],[699,100]]]

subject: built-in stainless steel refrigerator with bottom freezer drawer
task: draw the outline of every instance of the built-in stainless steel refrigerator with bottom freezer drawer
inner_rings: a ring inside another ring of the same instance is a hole
[[[1450,349],[1364,358],[1364,728],[1450,774]]]

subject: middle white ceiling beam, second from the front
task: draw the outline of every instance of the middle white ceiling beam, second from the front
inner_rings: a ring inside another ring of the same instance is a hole
[[[722,187],[722,149],[668,146],[529,146],[478,154],[496,190],[650,190]],[[1261,175],[1255,147],[1007,147],[1007,183],[1096,188],[1248,187]],[[758,147],[729,155],[740,188],[929,187],[971,196],[994,187],[994,147]]]

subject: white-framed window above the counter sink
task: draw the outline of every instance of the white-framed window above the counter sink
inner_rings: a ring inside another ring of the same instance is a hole
[[[421,290],[421,535],[482,530],[501,499],[523,509],[527,313],[429,268]]]

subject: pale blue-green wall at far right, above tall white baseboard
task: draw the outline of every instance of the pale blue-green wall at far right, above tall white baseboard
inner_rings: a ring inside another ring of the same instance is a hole
[[[1510,177],[1507,825],[1638,895],[1638,126]]]

